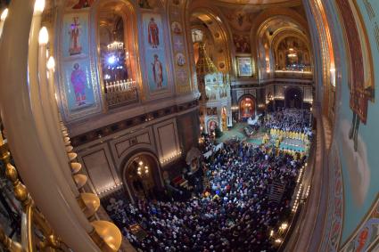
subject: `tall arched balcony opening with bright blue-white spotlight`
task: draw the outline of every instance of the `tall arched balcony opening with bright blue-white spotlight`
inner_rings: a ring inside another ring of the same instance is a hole
[[[138,102],[135,25],[135,13],[128,2],[99,4],[99,72],[109,109]]]

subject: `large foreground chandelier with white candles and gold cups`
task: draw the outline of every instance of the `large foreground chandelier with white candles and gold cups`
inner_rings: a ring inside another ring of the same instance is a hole
[[[80,174],[70,132],[59,114],[54,58],[47,61],[49,35],[47,28],[41,28],[44,9],[45,0],[12,0],[9,13],[5,10],[0,19],[0,53],[12,55],[18,62],[0,65],[0,110],[7,131],[0,130],[0,160],[22,208],[21,241],[9,238],[0,224],[0,248],[35,252],[72,251],[69,247],[75,247],[86,248],[86,252],[115,252],[121,245],[121,232],[115,224],[98,219],[100,199],[85,190],[87,175]],[[28,50],[12,46],[11,41]],[[24,99],[22,106],[14,103],[17,99],[9,99],[13,89]],[[44,193],[55,199],[47,200]],[[68,231],[66,225],[77,230]]]

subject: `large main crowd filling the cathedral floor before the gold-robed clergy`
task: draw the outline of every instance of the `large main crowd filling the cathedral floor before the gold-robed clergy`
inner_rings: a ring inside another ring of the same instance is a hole
[[[296,178],[306,157],[229,142],[203,162],[204,190],[184,201],[139,199],[123,193],[105,206],[140,251],[276,251],[270,231],[291,213]],[[284,185],[279,202],[272,183]],[[144,235],[131,232],[138,224]]]

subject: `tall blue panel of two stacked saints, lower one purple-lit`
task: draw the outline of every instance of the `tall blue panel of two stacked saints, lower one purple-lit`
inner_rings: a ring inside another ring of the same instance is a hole
[[[89,13],[83,11],[71,11],[62,16],[60,101],[67,121],[102,110],[99,84],[89,53],[88,20]]]

